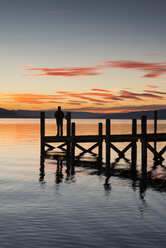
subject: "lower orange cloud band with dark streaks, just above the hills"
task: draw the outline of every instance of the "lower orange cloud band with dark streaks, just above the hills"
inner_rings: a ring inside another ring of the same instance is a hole
[[[112,108],[119,108],[122,111],[123,107],[142,104],[145,106],[146,100],[150,100],[153,103],[154,99],[156,103],[165,101],[165,92],[156,90],[144,90],[141,93],[134,91],[120,90],[113,93],[112,91],[100,89],[99,91],[87,92],[72,92],[72,91],[57,91],[55,94],[1,94],[0,104],[1,106],[9,106],[8,108],[21,108],[21,109],[52,109],[55,106],[61,105],[63,108],[71,108],[79,106],[80,108],[105,108],[110,105]],[[131,107],[132,107],[131,106]],[[140,107],[140,106],[139,106]],[[113,109],[112,109],[113,110]],[[96,111],[96,110],[95,110]]]

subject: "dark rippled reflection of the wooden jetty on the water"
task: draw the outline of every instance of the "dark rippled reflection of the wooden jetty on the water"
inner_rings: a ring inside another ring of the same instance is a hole
[[[48,157],[47,157],[48,158]],[[117,165],[118,159],[112,163],[111,170],[107,171],[105,165],[98,163],[91,163],[91,161],[72,161],[70,159],[64,159],[61,156],[52,157],[55,162],[55,183],[58,185],[62,182],[65,183],[74,183],[76,181],[75,174],[77,175],[78,171],[76,168],[88,168],[87,172],[89,175],[96,175],[98,177],[104,176],[105,180],[103,183],[103,188],[105,190],[105,194],[108,197],[111,193],[111,178],[119,177],[121,179],[128,179],[133,191],[138,191],[141,200],[145,199],[146,190],[148,188],[153,188],[154,190],[160,192],[166,192],[166,173],[161,176],[157,174],[156,171],[161,169],[166,172],[166,167],[162,164],[156,164],[152,166],[151,170],[146,171],[138,171],[136,166],[132,166],[128,161],[126,161],[126,165],[119,166]],[[160,167],[160,168],[159,168]],[[92,169],[92,172],[89,172],[89,169]],[[39,181],[43,182],[45,177],[45,164],[40,164],[40,174]]]

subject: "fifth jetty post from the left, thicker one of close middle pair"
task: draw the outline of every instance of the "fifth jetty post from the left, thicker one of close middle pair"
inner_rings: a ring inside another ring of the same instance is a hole
[[[106,119],[106,174],[110,172],[110,119]]]

